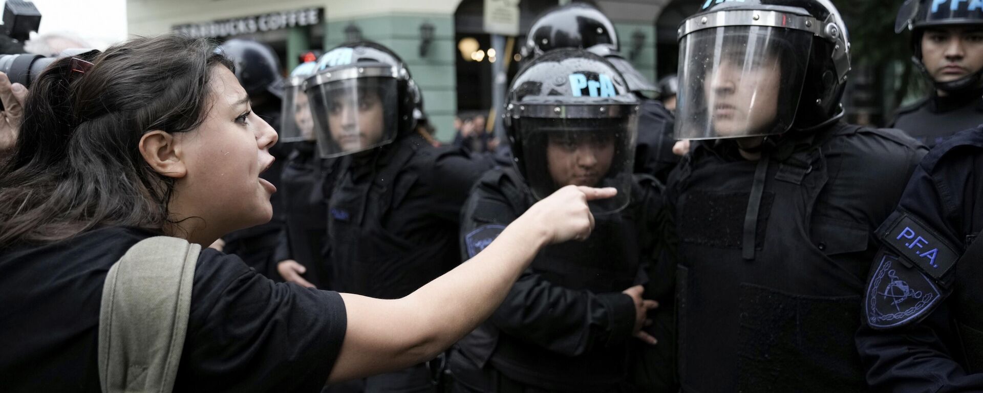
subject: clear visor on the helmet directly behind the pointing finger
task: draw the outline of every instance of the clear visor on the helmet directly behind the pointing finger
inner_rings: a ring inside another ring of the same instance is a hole
[[[552,106],[550,106],[551,108]],[[537,199],[565,186],[613,187],[617,196],[590,201],[595,214],[616,212],[630,201],[638,115],[622,105],[611,118],[515,119],[521,165]]]

